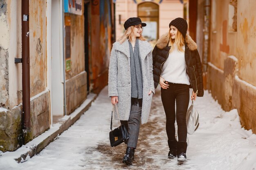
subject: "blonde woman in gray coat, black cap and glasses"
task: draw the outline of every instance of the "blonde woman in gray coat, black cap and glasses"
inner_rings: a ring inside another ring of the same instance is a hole
[[[129,134],[123,158],[127,165],[134,159],[140,124],[148,121],[155,93],[152,47],[141,35],[144,26],[140,18],[126,20],[124,35],[113,44],[108,71],[108,96],[112,104],[116,104],[121,124]]]

